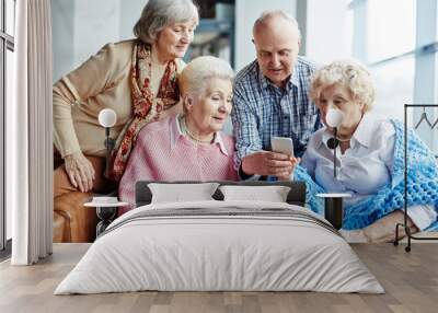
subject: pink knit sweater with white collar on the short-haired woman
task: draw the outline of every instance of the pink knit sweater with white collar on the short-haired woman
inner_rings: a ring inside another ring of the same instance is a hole
[[[198,144],[181,132],[177,117],[151,123],[138,134],[118,196],[132,204],[137,181],[238,181],[233,167],[234,140],[217,132],[211,144]]]

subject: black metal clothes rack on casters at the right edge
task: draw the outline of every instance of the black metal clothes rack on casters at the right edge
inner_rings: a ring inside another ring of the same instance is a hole
[[[411,241],[412,240],[438,240],[438,237],[422,237],[415,236],[411,233],[411,229],[407,224],[407,108],[408,107],[438,107],[438,104],[405,104],[404,105],[404,221],[403,223],[397,223],[395,225],[395,241],[394,245],[399,245],[399,229],[403,228],[406,237],[407,246],[405,246],[406,252],[411,252]]]

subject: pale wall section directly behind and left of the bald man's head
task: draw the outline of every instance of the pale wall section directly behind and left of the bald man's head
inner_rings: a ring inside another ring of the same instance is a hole
[[[265,10],[285,10],[296,16],[297,0],[235,0],[235,71],[255,59],[252,28]]]

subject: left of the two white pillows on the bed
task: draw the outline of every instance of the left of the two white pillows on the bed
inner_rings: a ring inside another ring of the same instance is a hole
[[[204,184],[148,184],[152,204],[214,200],[218,183]]]

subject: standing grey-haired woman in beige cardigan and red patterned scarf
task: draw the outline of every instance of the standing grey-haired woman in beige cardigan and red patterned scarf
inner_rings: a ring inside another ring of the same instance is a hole
[[[54,173],[54,210],[74,220],[71,235],[55,231],[55,241],[93,239],[89,224],[95,220],[82,204],[91,193],[110,186],[103,177],[105,135],[97,121],[100,111],[108,107],[117,114],[111,173],[118,181],[140,128],[177,113],[176,77],[197,24],[192,0],[149,0],[134,27],[136,39],[104,46],[54,85],[54,139],[56,153],[64,159]]]

